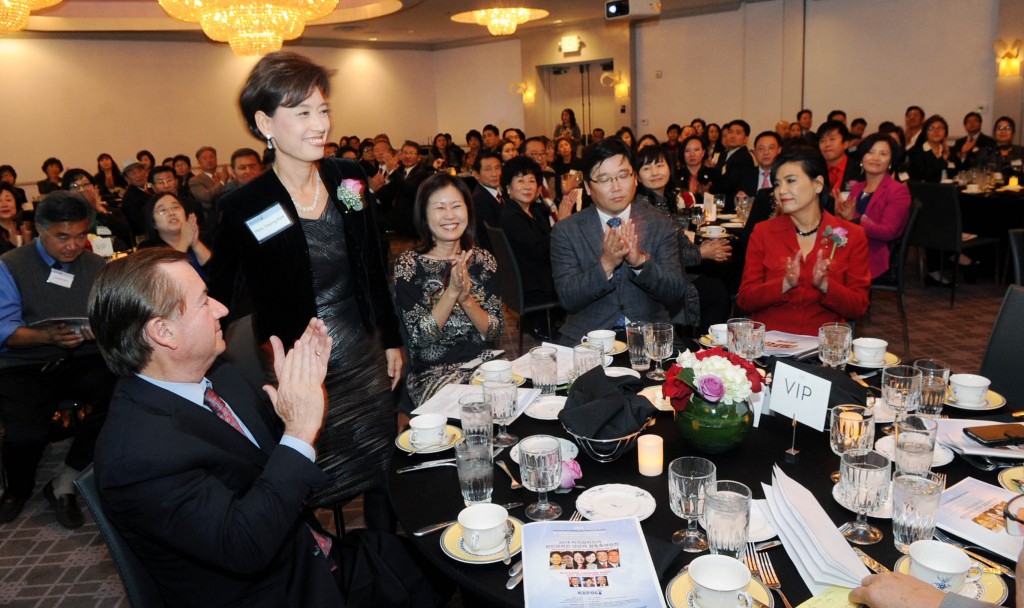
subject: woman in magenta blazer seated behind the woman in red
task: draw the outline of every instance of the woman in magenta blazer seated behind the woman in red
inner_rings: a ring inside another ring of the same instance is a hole
[[[861,142],[865,180],[850,188],[848,199],[836,201],[836,215],[859,224],[867,235],[871,280],[894,283],[889,268],[889,246],[903,235],[910,217],[910,189],[892,178],[900,150],[887,135],[874,133]]]

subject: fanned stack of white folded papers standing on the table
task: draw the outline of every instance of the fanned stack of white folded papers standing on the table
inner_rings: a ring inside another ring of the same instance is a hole
[[[777,466],[772,484],[761,484],[772,527],[811,595],[828,587],[853,589],[870,574],[817,498]]]

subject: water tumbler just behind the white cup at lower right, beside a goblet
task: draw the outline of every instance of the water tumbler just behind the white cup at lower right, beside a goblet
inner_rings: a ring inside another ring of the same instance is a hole
[[[905,554],[910,545],[935,532],[942,485],[935,474],[893,475],[893,542]]]

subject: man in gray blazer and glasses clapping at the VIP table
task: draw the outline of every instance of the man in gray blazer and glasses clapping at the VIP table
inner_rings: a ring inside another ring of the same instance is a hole
[[[561,343],[579,344],[593,330],[623,330],[627,321],[671,322],[686,275],[672,223],[637,189],[633,154],[618,139],[588,148],[584,186],[594,205],[555,224],[551,267],[568,318]]]

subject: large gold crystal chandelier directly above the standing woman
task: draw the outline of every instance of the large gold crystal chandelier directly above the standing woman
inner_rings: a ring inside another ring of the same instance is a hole
[[[159,1],[167,14],[198,23],[211,40],[228,43],[237,55],[280,50],[286,40],[302,36],[306,21],[327,16],[338,5],[338,0]]]

